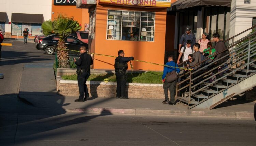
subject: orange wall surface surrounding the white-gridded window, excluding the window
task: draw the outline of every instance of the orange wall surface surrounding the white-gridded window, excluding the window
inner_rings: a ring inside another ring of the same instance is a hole
[[[151,11],[155,13],[154,42],[107,40],[107,10]],[[111,5],[97,5],[95,24],[95,53],[118,56],[124,50],[125,56],[134,59],[163,64],[165,52],[166,8],[132,8]],[[114,59],[94,56],[94,69],[114,69]],[[163,70],[162,66],[132,61],[134,70]],[[130,69],[130,67],[129,67]]]

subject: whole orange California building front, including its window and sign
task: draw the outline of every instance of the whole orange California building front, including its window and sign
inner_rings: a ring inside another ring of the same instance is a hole
[[[89,8],[91,53],[125,56],[163,64],[166,8],[170,1],[77,0],[78,8]],[[114,69],[112,57],[94,55],[94,69]],[[162,66],[132,61],[134,70],[162,70]],[[130,67],[128,68],[130,69]]]

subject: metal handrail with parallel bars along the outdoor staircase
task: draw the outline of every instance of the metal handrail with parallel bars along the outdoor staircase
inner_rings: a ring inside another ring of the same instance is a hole
[[[254,27],[256,27],[256,25],[254,25],[252,28],[254,28]],[[251,28],[250,28],[250,29],[251,29]],[[250,29],[247,29],[247,30],[243,31],[243,32],[239,33],[238,35],[240,35],[240,34],[246,32],[246,31],[248,31],[248,30],[250,30]],[[204,62],[204,61],[207,61],[208,59],[210,59],[210,58],[212,58],[212,57],[214,57],[214,56],[216,56],[216,55],[218,55],[218,54],[220,54],[220,53],[222,53],[222,52],[224,52],[224,51],[229,50],[230,48],[232,48],[232,51],[229,52],[229,54],[226,54],[225,56],[219,58],[218,60],[221,60],[221,59],[223,59],[223,58],[225,58],[225,57],[227,57],[227,56],[230,56],[230,55],[231,55],[231,57],[230,57],[231,59],[228,59],[227,61],[223,62],[221,65],[218,65],[217,67],[215,67],[215,68],[209,70],[208,72],[205,72],[205,73],[203,73],[203,74],[201,74],[201,75],[199,75],[199,76],[197,76],[197,77],[195,77],[195,78],[193,78],[192,75],[195,74],[196,72],[199,72],[200,70],[202,70],[202,68],[199,68],[199,69],[198,69],[197,71],[195,71],[195,72],[190,71],[190,72],[187,72],[187,73],[181,75],[181,76],[184,76],[184,75],[190,74],[190,76],[189,76],[187,79],[185,79],[185,80],[181,81],[180,83],[177,83],[177,84],[176,84],[176,87],[177,87],[177,88],[176,88],[176,96],[177,96],[178,91],[181,91],[182,89],[185,89],[185,88],[187,88],[187,87],[189,86],[189,95],[188,95],[188,96],[189,96],[188,106],[189,106],[191,95],[193,95],[193,94],[195,94],[195,93],[197,93],[197,92],[199,92],[199,91],[201,91],[201,90],[207,88],[208,86],[210,86],[210,85],[216,83],[218,80],[221,80],[221,79],[223,79],[224,77],[230,75],[231,73],[234,73],[234,72],[236,72],[237,70],[242,69],[242,68],[244,68],[244,67],[246,67],[246,66],[247,66],[247,74],[248,74],[249,63],[250,63],[250,57],[256,55],[256,53],[254,53],[254,52],[256,52],[256,44],[253,44],[253,45],[251,46],[251,42],[255,42],[255,40],[256,40],[256,38],[251,38],[251,37],[255,36],[255,35],[256,35],[256,32],[254,32],[254,33],[252,33],[252,34],[249,34],[249,35],[247,35],[247,36],[245,36],[245,37],[239,39],[238,41],[234,42],[234,41],[233,41],[233,38],[236,37],[236,36],[238,36],[238,35],[235,35],[235,36],[233,36],[233,37],[230,38],[230,39],[232,39],[232,43],[231,43],[230,45],[228,45],[228,48],[227,48],[227,49],[224,49],[224,50],[221,51],[221,52],[215,53],[215,54],[212,55],[212,56],[209,55],[210,57],[208,56],[207,59],[205,59],[205,60],[203,60],[203,61],[197,63],[197,64],[194,65],[193,67],[195,67],[195,66],[201,64],[201,63]],[[230,39],[228,39],[228,40],[230,40]],[[245,41],[245,40],[247,40],[247,39],[249,39],[248,42],[243,43],[241,46],[235,48],[235,50],[234,50],[233,47],[235,47],[237,44],[239,44],[239,43],[241,43],[241,42],[243,42],[243,41]],[[228,40],[226,40],[226,41],[228,41]],[[226,41],[225,41],[225,42],[226,42]],[[246,46],[248,46],[248,47],[246,47]],[[246,48],[243,49],[244,47],[246,47]],[[212,48],[213,48],[213,47],[212,47]],[[210,49],[212,49],[212,48],[210,48]],[[209,49],[209,50],[210,50],[210,49]],[[242,50],[241,50],[241,49],[242,49]],[[238,50],[239,50],[239,52],[237,52]],[[205,52],[206,52],[206,51],[205,51]],[[235,52],[237,52],[237,53],[234,54]],[[253,53],[254,53],[254,54],[253,54]],[[233,54],[235,55],[235,57],[233,57]],[[248,55],[246,55],[246,54],[248,54]],[[245,56],[245,55],[246,55],[246,56]],[[245,56],[245,57],[242,57],[242,58],[241,58],[241,56]],[[191,59],[192,59],[192,58],[191,58]],[[212,61],[211,63],[209,63],[208,65],[204,66],[203,68],[207,68],[208,66],[213,65],[213,63],[217,62],[218,60]],[[204,81],[206,81],[206,80],[208,80],[208,79],[210,79],[210,78],[212,78],[212,77],[214,77],[214,76],[216,76],[216,75],[218,75],[218,74],[221,74],[222,72],[224,72],[224,71],[226,71],[226,70],[232,68],[233,66],[236,66],[238,63],[240,63],[240,62],[242,62],[242,61],[245,61],[245,60],[247,60],[247,63],[246,63],[245,65],[241,65],[240,67],[238,67],[238,68],[236,68],[236,69],[233,69],[230,73],[225,74],[225,75],[222,76],[221,78],[219,78],[219,79],[213,81],[212,83],[210,83],[210,84],[208,84],[208,85],[206,85],[206,86],[204,86],[204,87],[202,87],[202,88],[200,88],[200,89],[198,89],[198,90],[196,90],[196,91],[194,90],[194,92],[191,93],[191,88],[194,88],[194,87],[200,85],[200,84],[203,83]],[[255,60],[255,61],[256,61],[256,60]],[[184,62],[186,62],[186,61],[184,61]],[[229,64],[228,62],[231,63],[231,65],[228,65],[228,64]],[[236,62],[236,63],[232,63],[232,62]],[[199,83],[197,83],[197,84],[195,84],[195,85],[191,85],[191,83],[192,83],[194,80],[196,80],[196,79],[198,79],[198,78],[200,78],[200,77],[206,75],[207,73],[212,72],[213,70],[217,69],[218,67],[223,66],[224,64],[227,64],[228,67],[225,68],[225,69],[222,69],[221,71],[219,71],[219,72],[217,72],[217,73],[215,73],[215,74],[213,74],[213,75],[211,75],[210,77],[207,77],[206,79],[200,81]],[[179,76],[179,77],[181,77],[181,76]],[[193,78],[193,79],[192,79],[192,78]],[[182,88],[179,89],[179,85],[182,84],[182,83],[184,83],[185,81],[188,81],[188,80],[189,80],[189,84],[187,84],[187,85],[185,85],[185,86],[183,86]],[[227,83],[227,85],[228,85],[228,83]],[[185,96],[185,97],[187,97],[187,96]]]

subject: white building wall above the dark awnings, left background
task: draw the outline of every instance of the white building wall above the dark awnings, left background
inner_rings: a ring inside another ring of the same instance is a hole
[[[51,19],[52,0],[0,0],[1,12],[6,12],[5,34],[11,33],[12,13],[43,14],[44,20]]]

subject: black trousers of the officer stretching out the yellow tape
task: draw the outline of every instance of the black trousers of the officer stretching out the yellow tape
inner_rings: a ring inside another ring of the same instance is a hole
[[[127,75],[125,73],[116,73],[116,97],[126,97],[125,96],[125,86],[126,86]]]

